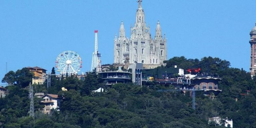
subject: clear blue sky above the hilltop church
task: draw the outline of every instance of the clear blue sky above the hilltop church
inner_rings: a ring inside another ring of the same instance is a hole
[[[77,52],[81,72],[89,71],[96,29],[102,64],[113,63],[115,33],[123,21],[130,37],[137,8],[136,0],[1,0],[0,79],[6,62],[7,72],[27,66],[51,71],[65,50]],[[249,71],[255,0],[143,0],[142,8],[152,37],[160,21],[168,59],[219,57]]]

